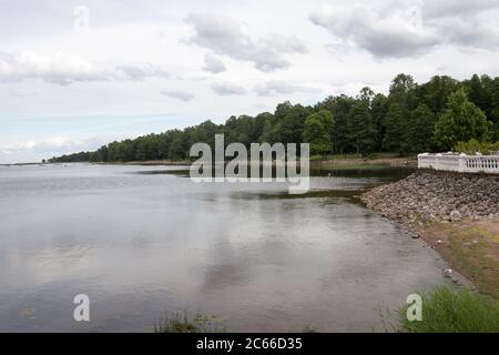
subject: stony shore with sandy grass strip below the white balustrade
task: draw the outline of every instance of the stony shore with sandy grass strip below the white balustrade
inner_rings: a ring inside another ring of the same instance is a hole
[[[499,176],[418,171],[360,200],[425,240],[480,292],[499,297]]]

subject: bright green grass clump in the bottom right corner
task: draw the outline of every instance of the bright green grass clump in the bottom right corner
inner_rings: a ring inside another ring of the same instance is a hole
[[[472,293],[437,287],[422,297],[422,321],[409,322],[407,306],[399,310],[399,322],[409,333],[497,333],[499,302]]]

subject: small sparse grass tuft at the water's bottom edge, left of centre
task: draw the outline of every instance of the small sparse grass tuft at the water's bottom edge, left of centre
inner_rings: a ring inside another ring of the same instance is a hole
[[[221,326],[223,320],[216,316],[204,315],[200,312],[190,314],[187,311],[164,313],[154,324],[155,333],[224,333]]]

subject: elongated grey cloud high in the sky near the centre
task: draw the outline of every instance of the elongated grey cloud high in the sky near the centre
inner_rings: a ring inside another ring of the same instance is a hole
[[[264,72],[288,68],[291,64],[285,54],[306,52],[305,44],[295,37],[272,34],[254,40],[228,17],[192,14],[185,21],[194,28],[194,34],[186,40],[187,43],[235,60],[253,62],[256,69]]]

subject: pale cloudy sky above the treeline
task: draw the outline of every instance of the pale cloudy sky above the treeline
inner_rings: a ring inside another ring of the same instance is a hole
[[[0,163],[312,104],[399,72],[499,75],[499,0],[0,0]]]

